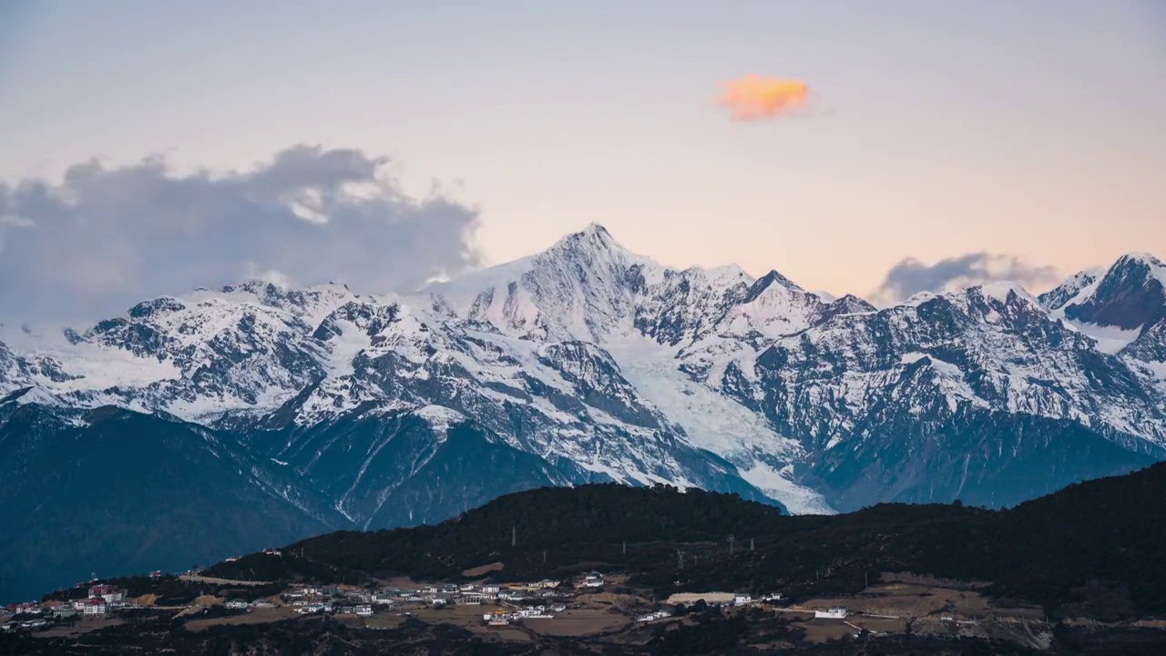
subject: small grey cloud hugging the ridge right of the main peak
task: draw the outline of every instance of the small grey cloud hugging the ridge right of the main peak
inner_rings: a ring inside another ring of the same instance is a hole
[[[935,264],[906,258],[887,271],[873,296],[894,302],[919,292],[944,292],[998,280],[1037,287],[1058,281],[1059,275],[1052,266],[1034,266],[1019,257],[998,253],[968,253]]]

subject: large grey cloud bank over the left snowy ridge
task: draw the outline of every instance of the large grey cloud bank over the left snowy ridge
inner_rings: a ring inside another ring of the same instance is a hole
[[[412,289],[479,264],[477,210],[408,196],[387,163],[301,145],[225,175],[152,156],[0,183],[0,317],[92,319],[257,275]]]

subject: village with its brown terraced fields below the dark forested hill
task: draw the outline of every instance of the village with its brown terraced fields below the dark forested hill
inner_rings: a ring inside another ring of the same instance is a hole
[[[525,641],[536,635],[612,636],[639,627],[667,628],[684,622],[694,609],[709,608],[725,615],[781,616],[802,627],[808,640],[820,641],[907,630],[986,636],[999,627],[1040,619],[1032,609],[989,608],[974,591],[923,580],[880,581],[861,596],[789,603],[777,592],[676,592],[655,599],[646,591],[628,587],[623,574],[599,572],[519,582],[399,579],[364,587],[292,584],[274,594],[273,585],[266,581],[211,579],[194,571],[176,577],[154,572],[150,577],[175,585],[213,584],[218,592],[199,593],[170,605],[157,595],[131,598],[125,588],[93,582],[72,591],[72,599],[0,609],[0,628],[34,636],[76,635],[124,623],[135,613],[154,613],[181,620],[188,630],[198,631],[222,624],[326,616],[368,629],[395,628],[416,619],[458,626],[485,640]],[[988,620],[984,626],[981,619]]]

